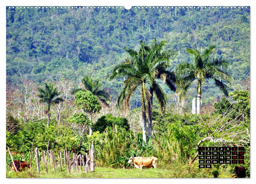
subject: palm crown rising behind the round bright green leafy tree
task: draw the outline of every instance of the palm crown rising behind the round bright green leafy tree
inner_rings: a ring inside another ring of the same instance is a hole
[[[93,81],[93,78],[91,76],[84,76],[81,82],[84,84],[84,89],[78,88],[75,89],[72,93],[76,93],[77,91],[91,91],[93,95],[97,96],[98,99],[104,104],[109,106],[109,103],[111,102],[110,96],[102,88],[102,83],[100,80]]]

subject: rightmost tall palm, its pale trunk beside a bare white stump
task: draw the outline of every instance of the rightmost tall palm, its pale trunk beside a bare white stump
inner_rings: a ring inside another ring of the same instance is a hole
[[[212,59],[212,54],[215,53],[215,45],[210,45],[200,53],[199,50],[187,49],[187,53],[194,55],[193,64],[180,63],[175,67],[178,85],[176,92],[179,94],[179,100],[185,97],[187,90],[190,88],[194,80],[198,80],[197,84],[197,114],[200,114],[200,103],[202,84],[206,79],[213,79],[215,85],[227,96],[228,86],[221,80],[226,81],[231,85],[232,79],[229,77],[226,69],[229,63],[224,59]]]

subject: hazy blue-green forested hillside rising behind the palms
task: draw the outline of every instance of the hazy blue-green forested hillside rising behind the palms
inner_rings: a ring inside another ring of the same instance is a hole
[[[112,100],[122,80],[108,80],[116,64],[128,56],[124,47],[138,48],[139,40],[167,40],[176,50],[173,68],[192,62],[187,48],[216,45],[216,57],[231,63],[236,84],[250,74],[250,9],[212,8],[6,8],[6,80],[41,83],[65,78],[79,83],[83,75],[103,79]],[[196,86],[195,86],[196,88]],[[195,88],[190,94],[196,95]],[[233,87],[231,86],[231,89]],[[168,88],[164,86],[168,92]],[[214,83],[204,84],[204,103],[221,95]],[[168,92],[171,93],[171,92]],[[138,93],[139,95],[139,93]],[[135,96],[132,107],[140,104]],[[190,99],[191,99],[190,98]]]

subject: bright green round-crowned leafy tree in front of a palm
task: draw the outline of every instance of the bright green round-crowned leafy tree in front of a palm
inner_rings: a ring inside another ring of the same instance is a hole
[[[93,114],[98,113],[102,106],[98,98],[91,93],[91,91],[78,91],[75,94],[75,107],[82,109],[84,113],[89,115],[90,120],[93,119]],[[91,136],[92,129],[90,126],[89,135]]]

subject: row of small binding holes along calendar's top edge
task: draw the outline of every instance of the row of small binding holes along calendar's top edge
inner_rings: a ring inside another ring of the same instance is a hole
[[[88,9],[88,8],[89,8],[89,9],[96,9],[96,8],[97,8],[97,9],[107,9],[107,8],[108,8],[108,9],[110,9],[110,8],[112,8],[112,9],[114,9],[114,8],[115,8],[115,9],[118,9],[118,8],[120,8],[120,9],[121,9],[121,8],[123,8],[123,7],[121,7],[121,6],[120,6],[120,7],[118,7],[118,6],[83,6],[83,7],[81,7],[81,6],[64,6],[64,7],[62,7],[62,6],[61,6],[61,7],[59,7],[59,6],[56,6],[56,7],[55,7],[55,6],[53,6],[53,7],[51,7],[51,6],[49,6],[49,7],[47,7],[47,6],[45,6],[45,7],[44,7],[44,6],[42,6],[42,7],[40,7],[40,6],[38,6],[38,7],[37,7],[37,6],[31,6],[31,7],[29,7],[29,6],[27,6],[27,7],[25,7],[25,6],[23,6],[23,7],[22,7],[22,6],[19,6],[19,7],[18,7],[18,6],[15,6],[15,7],[14,7],[14,6],[13,6],[13,7],[8,7],[8,8],[9,8],[9,9],[11,9],[11,8],[12,8],[12,9],[14,9],[14,8],[16,8],[16,9],[18,9],[18,8],[19,8],[19,9],[28,9],[28,8],[31,8],[31,9],[33,9],[33,8],[35,8],[35,9],[37,9],[37,8],[38,8],[38,9],[40,9],[40,8],[42,8],[42,9],[44,9],[44,8],[46,8],[46,9],[48,9],[48,8],[50,8],[50,9],[51,9],[51,8],[53,8],[53,9],[59,9],[59,8],[60,8],[60,9],[62,9],[62,8],[64,8],[64,9],[66,9],[66,8],[68,8],[68,9],[70,9],[70,8],[73,8],[73,9],[81,9],[81,8],[82,8],[82,9],[84,9],[84,8],[87,8],[87,9]],[[229,8],[230,8],[230,9],[233,9],[233,8],[236,9],[236,8],[238,8],[238,9],[240,9],[240,8],[242,8],[242,9],[243,9],[243,8],[247,8],[247,7],[243,7],[243,6],[242,6],[242,7],[240,7],[240,6],[234,6],[234,7],[232,7],[232,6],[230,6],[230,7],[229,7],[229,6],[227,6],[227,7],[225,7],[225,6],[222,6],[222,7],[221,7],[221,6],[216,6],[216,7],[215,7],[215,6],[190,6],[190,7],[188,7],[188,6],[182,6],[182,7],[181,7],[181,6],[156,6],[156,7],[155,7],[155,6],[149,6],[149,7],[147,7],[147,6],[146,6],[146,7],[144,7],[144,6],[138,6],[138,7],[137,7],[137,6],[134,6],[134,7],[132,7],[132,8],[134,8],[134,9],[144,9],[144,8],[146,8],[146,9],[147,9],[147,8],[149,8],[149,9],[151,9],[151,8],[153,8],[153,9],[154,9],[154,8],[157,8],[157,9],[158,9],[158,8],[160,8],[160,9],[161,9],[161,8],[164,8],[164,9],[170,9],[170,8],[171,8],[171,9],[174,9],[174,8],[176,8],[176,9],[177,9],[177,8],[179,8],[179,9],[181,9],[181,8],[183,8],[183,9],[185,9],[185,8],[186,8],[186,9],[188,9],[188,8],[190,8],[190,9],[199,9],[199,8],[201,8],[201,9],[206,9],[206,8],[208,8],[208,9],[210,9],[210,8],[211,8],[211,9],[214,9],[214,8],[215,8],[215,9],[218,9],[218,8],[219,8],[219,9],[221,9],[221,8],[223,8],[223,9],[225,9],[225,8],[227,8],[227,9],[229,9]]]

